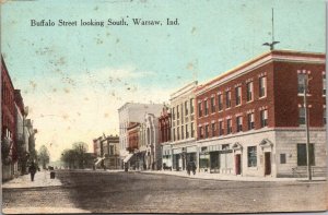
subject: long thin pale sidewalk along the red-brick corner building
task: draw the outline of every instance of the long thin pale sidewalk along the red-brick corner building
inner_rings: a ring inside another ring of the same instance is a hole
[[[210,180],[223,180],[223,181],[308,181],[307,178],[274,178],[274,177],[249,177],[249,176],[235,176],[235,175],[221,175],[221,174],[209,174],[209,172],[196,172],[196,175],[187,175],[186,171],[171,171],[171,170],[145,170],[140,171],[143,174],[162,174],[169,176],[179,176],[185,178],[197,178],[197,179],[210,179]],[[325,177],[313,177],[313,181],[325,181]]]

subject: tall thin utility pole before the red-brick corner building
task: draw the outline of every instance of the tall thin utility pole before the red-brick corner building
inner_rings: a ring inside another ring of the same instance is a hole
[[[309,129],[308,129],[308,112],[307,112],[307,84],[308,84],[308,75],[304,76],[304,110],[305,110],[305,131],[306,131],[306,165],[307,165],[307,177],[308,180],[312,180],[312,171],[311,171],[311,162],[309,162]]]

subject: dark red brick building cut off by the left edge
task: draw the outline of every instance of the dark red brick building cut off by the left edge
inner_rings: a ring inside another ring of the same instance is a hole
[[[1,164],[2,180],[11,179],[17,169],[15,143],[14,86],[1,56]]]

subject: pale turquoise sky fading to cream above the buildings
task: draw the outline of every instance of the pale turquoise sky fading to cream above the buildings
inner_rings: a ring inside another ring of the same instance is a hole
[[[168,103],[179,87],[268,51],[272,8],[276,49],[325,52],[324,0],[2,1],[1,53],[38,130],[36,148],[46,145],[51,160],[74,142],[91,152],[93,139],[118,134],[125,103]],[[122,17],[127,26],[106,25]],[[105,26],[80,26],[81,20]]]

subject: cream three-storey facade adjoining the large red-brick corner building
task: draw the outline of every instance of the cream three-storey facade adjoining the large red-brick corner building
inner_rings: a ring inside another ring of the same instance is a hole
[[[192,82],[171,95],[172,141],[162,143],[162,151],[165,166],[171,165],[174,170],[185,170],[189,162],[198,164],[195,118],[197,84]]]

